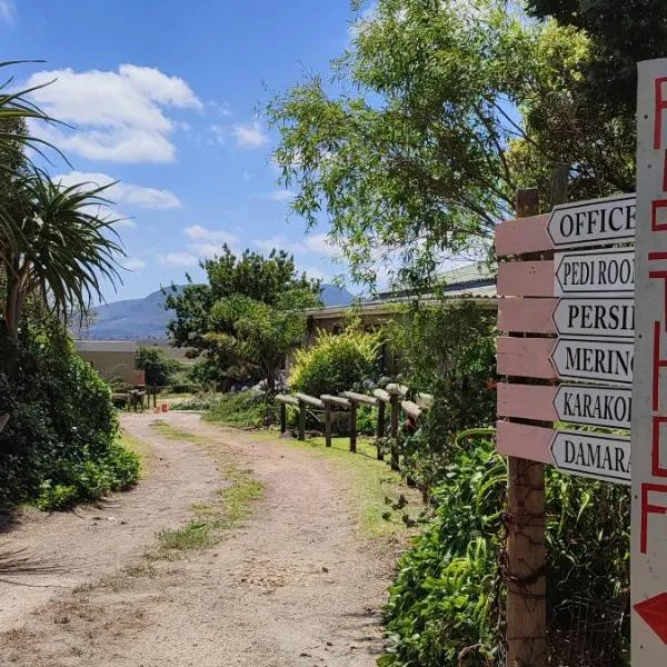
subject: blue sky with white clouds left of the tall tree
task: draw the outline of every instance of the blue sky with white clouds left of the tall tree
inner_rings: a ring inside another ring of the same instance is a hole
[[[20,83],[56,81],[36,101],[76,129],[39,129],[72,167],[63,181],[120,179],[110,192],[127,249],[108,300],[201,278],[198,260],[236,250],[295,252],[299,268],[340,272],[326,229],[303,237],[277,183],[276,136],[257,118],[269,90],[327,72],[345,49],[348,0],[0,0],[2,60]],[[73,173],[72,173],[73,172]]]

